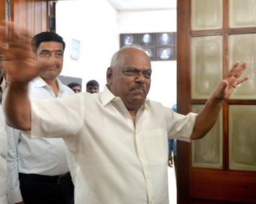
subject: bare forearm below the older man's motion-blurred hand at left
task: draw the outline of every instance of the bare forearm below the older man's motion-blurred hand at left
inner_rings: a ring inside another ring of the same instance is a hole
[[[30,130],[31,104],[28,98],[28,83],[11,82],[5,100],[5,115],[9,126]]]

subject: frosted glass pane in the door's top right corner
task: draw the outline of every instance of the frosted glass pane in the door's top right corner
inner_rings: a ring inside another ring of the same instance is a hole
[[[230,0],[230,28],[256,26],[256,0]]]

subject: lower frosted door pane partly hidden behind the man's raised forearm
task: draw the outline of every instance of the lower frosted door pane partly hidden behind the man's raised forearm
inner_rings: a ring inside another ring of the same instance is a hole
[[[192,112],[199,113],[204,105],[192,105]],[[192,141],[192,166],[222,168],[222,111],[212,130]]]

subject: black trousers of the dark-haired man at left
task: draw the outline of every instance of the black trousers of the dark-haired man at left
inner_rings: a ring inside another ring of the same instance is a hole
[[[43,175],[45,176],[45,175]],[[48,176],[49,177],[49,176]],[[19,174],[20,190],[26,204],[73,204],[74,185],[71,176],[62,184]],[[39,178],[41,178],[39,176]],[[46,177],[47,178],[47,177]]]

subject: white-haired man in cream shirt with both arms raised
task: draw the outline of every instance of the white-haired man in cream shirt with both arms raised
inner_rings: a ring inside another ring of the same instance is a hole
[[[26,52],[26,60],[17,58],[15,47],[5,55],[14,60],[8,62],[13,65],[8,69],[12,80],[5,107],[8,124],[30,130],[24,133],[31,138],[65,140],[79,204],[169,203],[167,137],[202,138],[215,124],[223,101],[248,80],[238,80],[247,63],[237,68],[236,62],[200,114],[180,115],[146,98],[150,59],[139,47],[123,46],[111,60],[102,93],[30,102],[28,83],[39,66]]]

